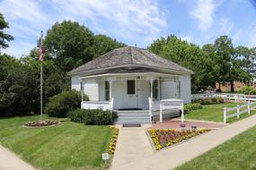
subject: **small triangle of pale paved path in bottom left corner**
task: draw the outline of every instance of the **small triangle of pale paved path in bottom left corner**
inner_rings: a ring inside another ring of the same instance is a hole
[[[0,170],[34,170],[34,168],[0,145]]]

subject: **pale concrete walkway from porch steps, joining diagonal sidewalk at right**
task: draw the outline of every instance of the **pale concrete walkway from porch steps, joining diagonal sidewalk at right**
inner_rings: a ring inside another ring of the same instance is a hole
[[[172,169],[176,166],[180,166],[184,162],[190,161],[194,157],[198,157],[199,155],[207,152],[209,149],[215,148],[217,145],[231,139],[241,132],[248,130],[254,125],[256,125],[256,115],[252,115],[251,117],[236,123],[232,123],[221,129],[201,134],[200,136],[181,143],[173,148],[154,152],[150,151],[150,146],[148,145],[148,140],[146,139],[146,133],[142,132],[144,131],[144,128],[129,128],[125,130],[121,128],[117,150],[111,169]],[[126,136],[127,132],[128,136]],[[139,134],[144,135],[144,137],[137,136]],[[137,138],[139,138],[139,140],[137,140]],[[144,148],[140,148],[139,146],[143,145],[143,143]],[[130,150],[127,149],[126,145],[128,145],[128,148],[131,149],[132,154]],[[132,145],[134,146],[134,149],[132,149]],[[132,159],[130,156],[134,156],[135,158]],[[127,159],[129,161],[126,161]]]

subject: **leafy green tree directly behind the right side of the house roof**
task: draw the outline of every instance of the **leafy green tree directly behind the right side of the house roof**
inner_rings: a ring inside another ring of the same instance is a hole
[[[212,60],[200,47],[190,44],[174,35],[158,38],[148,47],[154,54],[163,56],[174,63],[192,70],[192,90],[206,89],[214,86]]]

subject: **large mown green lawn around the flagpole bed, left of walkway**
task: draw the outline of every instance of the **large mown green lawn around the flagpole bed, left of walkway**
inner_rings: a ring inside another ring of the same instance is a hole
[[[28,129],[23,123],[40,116],[0,119],[0,143],[39,169],[103,169],[102,152],[110,142],[107,126],[61,125]]]

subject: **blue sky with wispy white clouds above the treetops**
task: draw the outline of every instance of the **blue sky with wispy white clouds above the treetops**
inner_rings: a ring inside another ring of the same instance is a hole
[[[29,54],[56,21],[79,21],[95,34],[147,47],[175,34],[191,43],[213,43],[220,35],[234,46],[256,47],[256,6],[250,0],[0,0],[14,36],[4,52]]]

